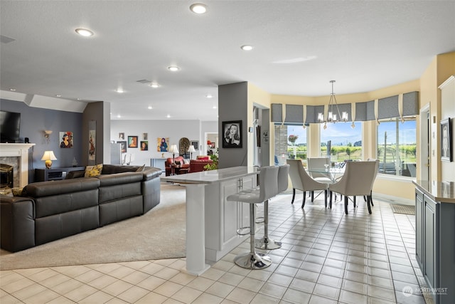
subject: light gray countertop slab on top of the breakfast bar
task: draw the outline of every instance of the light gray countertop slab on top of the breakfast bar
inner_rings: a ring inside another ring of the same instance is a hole
[[[249,175],[257,174],[258,172],[259,168],[257,167],[240,166],[161,177],[161,181],[182,184],[213,184],[215,182],[224,182],[229,179],[247,177]]]

